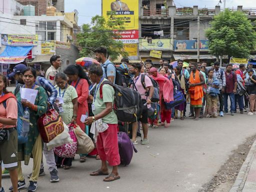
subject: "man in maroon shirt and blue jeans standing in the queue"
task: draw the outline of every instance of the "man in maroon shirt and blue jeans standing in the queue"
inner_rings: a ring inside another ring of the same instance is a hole
[[[230,103],[231,103],[230,114],[233,115],[236,107],[234,102],[234,94],[236,93],[237,79],[236,79],[236,74],[232,71],[231,63],[226,65],[225,77],[226,77],[226,86],[223,93],[224,113],[226,114],[228,113],[227,98],[229,96]]]

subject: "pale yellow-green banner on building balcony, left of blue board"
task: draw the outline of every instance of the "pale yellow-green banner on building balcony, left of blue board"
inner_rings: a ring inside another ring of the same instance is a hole
[[[170,39],[139,39],[139,49],[163,50],[170,49]]]

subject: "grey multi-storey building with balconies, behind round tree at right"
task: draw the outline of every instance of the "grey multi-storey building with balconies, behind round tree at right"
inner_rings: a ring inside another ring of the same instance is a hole
[[[161,51],[161,57],[168,60],[196,60],[198,16],[200,60],[214,58],[208,53],[205,29],[213,16],[222,11],[220,6],[177,8],[172,5],[172,0],[140,0],[139,6],[139,55],[143,60],[150,58],[151,50]],[[243,11],[252,21],[256,19],[256,9],[237,6],[231,10]],[[159,58],[151,59],[158,63]]]

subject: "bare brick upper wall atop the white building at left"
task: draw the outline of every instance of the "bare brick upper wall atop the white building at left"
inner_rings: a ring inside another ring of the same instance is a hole
[[[41,16],[46,14],[46,7],[48,6],[48,0],[17,0],[17,2],[23,5],[33,5],[35,8],[35,15]]]

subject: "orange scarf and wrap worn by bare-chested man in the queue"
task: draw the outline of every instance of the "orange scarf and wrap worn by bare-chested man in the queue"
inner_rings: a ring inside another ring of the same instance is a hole
[[[200,74],[199,71],[196,70],[194,78],[193,78],[193,71],[190,73],[189,83],[200,83]],[[190,94],[190,105],[194,108],[196,107],[202,107],[202,97],[203,97],[203,91],[202,91],[202,85],[197,86],[190,86],[189,89]]]

